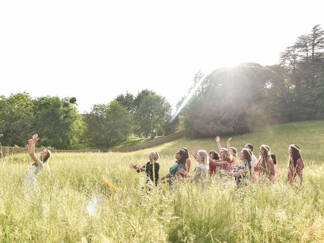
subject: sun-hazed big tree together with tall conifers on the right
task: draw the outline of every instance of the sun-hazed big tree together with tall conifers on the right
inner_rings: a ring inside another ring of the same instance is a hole
[[[191,89],[202,77],[198,71]],[[280,53],[278,64],[242,63],[212,71],[179,123],[188,136],[205,137],[251,132],[260,121],[275,124],[323,113],[324,30],[315,25]]]

